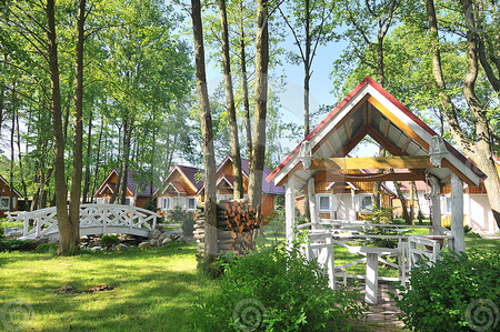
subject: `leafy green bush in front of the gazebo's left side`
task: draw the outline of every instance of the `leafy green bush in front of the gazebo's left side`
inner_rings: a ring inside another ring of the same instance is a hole
[[[226,259],[222,291],[194,309],[196,331],[347,331],[363,311],[359,293],[329,289],[298,245]]]

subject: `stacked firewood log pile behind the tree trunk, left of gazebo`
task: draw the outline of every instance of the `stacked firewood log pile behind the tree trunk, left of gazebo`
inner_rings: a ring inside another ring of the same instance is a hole
[[[198,250],[204,251],[204,205],[198,205],[193,237]],[[253,230],[260,228],[257,210],[247,201],[219,201],[217,203],[217,238],[219,252],[243,254],[256,249]]]

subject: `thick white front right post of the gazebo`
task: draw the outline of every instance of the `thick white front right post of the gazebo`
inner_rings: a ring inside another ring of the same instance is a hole
[[[451,173],[451,235],[453,237],[453,251],[466,251],[463,233],[463,182]]]

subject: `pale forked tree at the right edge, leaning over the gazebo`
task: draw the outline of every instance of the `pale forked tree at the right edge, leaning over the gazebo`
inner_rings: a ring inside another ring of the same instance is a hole
[[[488,6],[487,2],[481,2]],[[493,153],[491,149],[492,135],[489,125],[489,110],[488,102],[481,100],[478,93],[478,76],[480,69],[480,58],[487,58],[486,49],[481,48],[481,38],[478,36],[477,12],[473,10],[473,3],[470,0],[461,1],[462,19],[468,22],[466,24],[466,48],[464,54],[467,59],[467,67],[464,72],[464,80],[462,83],[462,98],[466,102],[468,111],[473,119],[473,127],[463,125],[463,112],[460,107],[453,101],[450,93],[450,87],[447,85],[447,80],[443,71],[443,61],[441,57],[441,42],[439,34],[438,16],[436,13],[436,6],[433,0],[426,0],[427,19],[429,23],[429,33],[431,42],[432,73],[434,77],[436,87],[439,91],[441,100],[441,108],[447,115],[450,131],[459,144],[459,147],[471,157],[478,167],[488,175],[484,180],[484,187],[488,191],[488,199],[490,202],[493,217],[497,224],[500,227],[500,179],[493,161]],[[493,4],[494,6],[494,4]],[[479,44],[479,47],[478,47]],[[493,48],[499,50],[498,41]],[[493,61],[494,62],[494,61]],[[489,64],[489,62],[488,62]],[[488,64],[486,64],[488,67]],[[484,63],[483,63],[484,66]],[[484,69],[484,68],[483,68]],[[486,70],[487,72],[489,69]],[[498,76],[494,72],[489,72],[491,89],[496,90],[496,79]],[[468,132],[471,130],[471,133]]]

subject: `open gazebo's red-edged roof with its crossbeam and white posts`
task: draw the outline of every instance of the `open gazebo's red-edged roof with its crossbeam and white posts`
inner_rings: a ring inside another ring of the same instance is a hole
[[[346,158],[367,135],[390,153],[390,157]],[[381,170],[352,173],[351,170]],[[393,172],[390,170],[404,170]],[[453,250],[464,251],[463,185],[481,187],[487,175],[463,154],[446,142],[431,128],[401,104],[371,78],[358,84],[309,135],[267,178],[286,187],[287,240],[293,240],[294,193],[308,190],[311,222],[318,223],[317,194],[326,182],[428,181],[431,187],[432,222],[439,230],[440,201],[447,185],[451,188],[451,235]],[[326,180],[328,179],[328,180]],[[341,184],[343,185],[343,184]],[[339,211],[342,198],[333,187]]]

